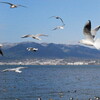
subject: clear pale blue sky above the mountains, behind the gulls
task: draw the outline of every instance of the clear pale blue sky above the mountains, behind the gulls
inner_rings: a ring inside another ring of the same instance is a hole
[[[0,0],[21,4],[27,8],[11,9],[0,3],[0,42],[47,42],[68,43],[84,38],[83,27],[91,20],[92,28],[100,25],[100,0]],[[63,30],[52,29],[61,25],[60,20],[49,18],[60,16],[66,26]],[[21,38],[26,34],[48,34],[42,40]],[[100,37],[98,31],[97,37]]]

